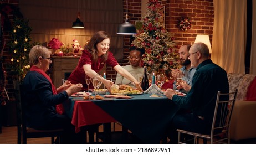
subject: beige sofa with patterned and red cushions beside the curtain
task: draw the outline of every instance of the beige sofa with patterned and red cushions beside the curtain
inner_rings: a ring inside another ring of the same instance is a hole
[[[229,91],[238,89],[230,126],[230,137],[234,141],[256,138],[255,77],[253,74],[228,74]]]

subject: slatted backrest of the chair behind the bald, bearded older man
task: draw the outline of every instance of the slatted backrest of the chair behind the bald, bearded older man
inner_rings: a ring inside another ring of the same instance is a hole
[[[229,93],[221,93],[218,91],[212,122],[212,135],[223,130],[229,131],[229,123],[237,97],[237,91],[237,89]]]

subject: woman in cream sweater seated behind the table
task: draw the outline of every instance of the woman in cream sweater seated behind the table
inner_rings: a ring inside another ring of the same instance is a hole
[[[144,48],[136,48],[135,46],[132,46],[130,48],[130,55],[129,55],[129,62],[130,65],[122,66],[125,70],[129,71],[131,75],[135,77],[135,79],[141,81],[140,77],[142,78],[142,75],[144,73],[144,68],[140,65],[142,55],[145,53]],[[129,84],[130,83],[130,84]],[[126,79],[124,76],[120,75],[119,73],[116,75],[116,82],[115,84],[124,84],[124,85],[130,85],[133,86],[132,82],[128,79]]]

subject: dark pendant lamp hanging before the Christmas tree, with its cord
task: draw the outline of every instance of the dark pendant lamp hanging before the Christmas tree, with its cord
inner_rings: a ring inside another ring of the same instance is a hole
[[[132,25],[128,19],[128,0],[126,0],[126,19],[119,25],[117,34],[134,35],[137,34],[135,25]]]

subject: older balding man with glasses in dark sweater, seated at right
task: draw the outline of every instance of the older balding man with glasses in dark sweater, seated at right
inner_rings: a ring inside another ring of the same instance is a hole
[[[186,96],[178,96],[172,89],[166,90],[166,97],[191,113],[178,113],[171,122],[170,143],[177,143],[177,128],[197,133],[211,132],[217,92],[229,92],[227,73],[209,59],[206,44],[195,43],[188,52],[191,66],[196,68],[191,89]],[[182,86],[182,84],[180,84]]]

